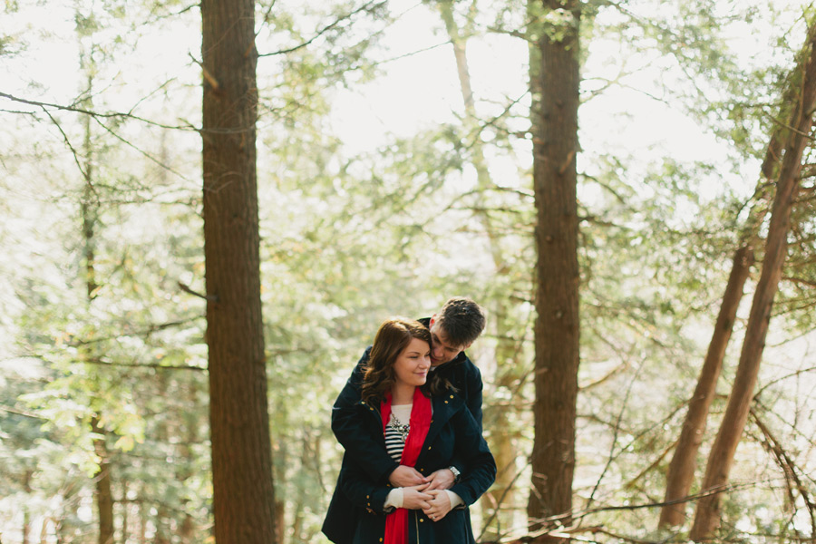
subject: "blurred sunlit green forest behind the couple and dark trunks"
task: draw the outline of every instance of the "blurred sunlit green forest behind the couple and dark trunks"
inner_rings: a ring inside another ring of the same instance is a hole
[[[568,4],[582,15],[580,366],[573,515],[552,527],[583,541],[685,541],[760,283],[775,181],[763,168],[791,89],[805,87],[812,7]],[[325,541],[342,453],[330,406],[376,326],[454,295],[489,316],[469,355],[500,474],[472,509],[477,532],[539,529],[528,524],[541,279],[530,5],[255,4],[280,542]],[[0,539],[214,540],[199,5],[19,0],[3,21]],[[811,153],[722,540],[816,534]],[[688,516],[666,527],[666,474],[751,228],[757,263],[714,376]]]

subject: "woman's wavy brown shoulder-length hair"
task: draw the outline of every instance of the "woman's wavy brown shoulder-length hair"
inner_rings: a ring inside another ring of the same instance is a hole
[[[368,363],[365,364],[360,394],[366,403],[381,402],[385,398],[385,392],[391,390],[396,379],[393,364],[413,338],[427,342],[430,349],[431,331],[419,321],[392,317],[386,319],[377,329]],[[429,396],[436,389],[431,384],[433,381],[431,373],[428,375],[428,381],[421,387],[425,396]]]

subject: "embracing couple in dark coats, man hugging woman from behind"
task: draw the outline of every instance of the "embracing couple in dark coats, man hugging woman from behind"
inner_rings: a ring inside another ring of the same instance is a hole
[[[481,374],[464,354],[481,307],[448,300],[430,319],[386,320],[332,410],[345,448],[323,524],[336,544],[471,544],[468,507],[496,464],[481,435]]]

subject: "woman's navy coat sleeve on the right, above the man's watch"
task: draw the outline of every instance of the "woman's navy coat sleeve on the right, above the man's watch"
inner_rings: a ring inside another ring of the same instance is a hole
[[[461,497],[465,504],[473,504],[482,493],[488,491],[496,479],[496,461],[481,436],[481,426],[469,410],[460,410],[452,418],[455,432],[454,457],[464,461],[461,481],[451,491]]]

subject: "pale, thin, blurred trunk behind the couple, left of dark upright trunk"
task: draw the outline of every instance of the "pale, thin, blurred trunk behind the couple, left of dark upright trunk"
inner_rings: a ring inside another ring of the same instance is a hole
[[[464,104],[464,120],[462,122],[465,129],[467,141],[466,147],[470,149],[471,165],[476,170],[477,189],[489,191],[495,187],[487,160],[485,159],[484,143],[481,140],[481,121],[476,112],[476,101],[473,97],[471,85],[471,73],[468,64],[467,42],[470,29],[461,29],[454,19],[452,0],[442,0],[438,4],[442,22],[445,30],[451,38],[453,55],[456,60],[457,73],[461,90],[462,103]],[[474,5],[471,5],[471,9]],[[472,20],[472,18],[470,19]],[[477,218],[481,221],[487,233],[490,244],[491,257],[495,274],[500,277],[506,274],[510,268],[504,252],[501,248],[501,237],[491,220],[491,215],[487,209],[479,209],[476,212]],[[496,346],[496,375],[493,383],[497,387],[511,387],[520,380],[520,364],[518,357],[520,354],[519,341],[510,335],[510,301],[506,297],[499,297],[491,304],[491,315],[496,322],[496,336],[499,339]],[[484,423],[491,431],[491,451],[496,458],[496,465],[499,471],[496,473],[496,481],[491,486],[491,490],[482,497],[482,519],[487,523],[482,535],[488,541],[498,541],[502,528],[513,525],[513,512],[508,508],[514,502],[514,477],[515,460],[518,458],[515,436],[512,434],[510,425],[510,409],[500,407],[485,410]]]

